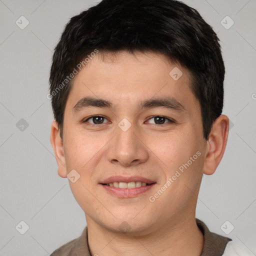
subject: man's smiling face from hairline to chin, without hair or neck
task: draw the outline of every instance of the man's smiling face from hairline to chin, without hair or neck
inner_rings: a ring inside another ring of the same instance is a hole
[[[190,84],[152,52],[98,53],[75,76],[58,174],[80,175],[69,184],[87,223],[146,233],[193,214],[206,141]]]

